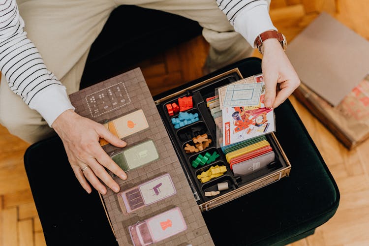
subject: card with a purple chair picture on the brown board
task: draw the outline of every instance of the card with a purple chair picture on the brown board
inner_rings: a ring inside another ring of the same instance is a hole
[[[176,194],[176,188],[169,174],[164,174],[144,184],[118,194],[122,212],[131,213]]]

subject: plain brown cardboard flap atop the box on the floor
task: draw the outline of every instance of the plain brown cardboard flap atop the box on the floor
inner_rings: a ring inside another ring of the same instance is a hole
[[[302,82],[333,106],[369,70],[369,42],[321,13],[288,46],[286,54]]]

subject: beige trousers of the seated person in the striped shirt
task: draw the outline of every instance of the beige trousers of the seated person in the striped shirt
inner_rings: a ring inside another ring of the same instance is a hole
[[[79,90],[90,47],[111,11],[121,4],[158,9],[197,21],[211,46],[207,60],[211,68],[246,58],[252,51],[233,30],[215,0],[17,0],[17,3],[28,37],[68,94]],[[35,110],[10,91],[6,82],[1,76],[0,123],[30,143],[55,134]]]

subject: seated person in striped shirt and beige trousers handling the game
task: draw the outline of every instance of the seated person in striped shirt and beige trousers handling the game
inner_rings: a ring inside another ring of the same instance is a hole
[[[15,0],[0,0],[0,123],[31,143],[53,134],[54,129],[62,139],[78,181],[89,193],[90,184],[106,193],[98,178],[119,191],[104,167],[126,179],[123,170],[100,147],[99,138],[117,147],[126,143],[101,124],[77,115],[67,94],[78,91],[91,44],[118,5],[135,4],[199,22],[211,46],[206,63],[210,69],[247,57],[257,41],[264,55],[267,107],[277,107],[300,83],[280,42],[272,35],[277,32],[270,31],[276,28],[268,14],[268,0],[20,0],[18,3],[19,10]],[[28,33],[24,31],[25,23]]]

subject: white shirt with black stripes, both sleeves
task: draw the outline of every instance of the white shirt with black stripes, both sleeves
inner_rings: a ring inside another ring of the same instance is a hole
[[[219,8],[252,46],[258,34],[275,29],[268,0],[216,0]],[[65,110],[74,109],[65,87],[44,64],[27,38],[15,0],[0,0],[0,69],[10,89],[51,126]]]

